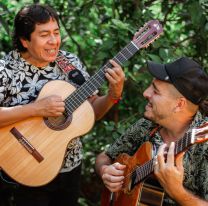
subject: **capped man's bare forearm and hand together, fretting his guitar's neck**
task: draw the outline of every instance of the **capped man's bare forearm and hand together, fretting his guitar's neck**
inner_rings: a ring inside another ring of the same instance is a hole
[[[166,144],[158,151],[158,163],[155,165],[154,173],[160,184],[169,196],[182,206],[207,206],[206,200],[200,199],[183,186],[184,168],[183,154],[174,157],[174,143],[172,142],[165,162],[164,151]],[[174,164],[175,162],[175,164]]]

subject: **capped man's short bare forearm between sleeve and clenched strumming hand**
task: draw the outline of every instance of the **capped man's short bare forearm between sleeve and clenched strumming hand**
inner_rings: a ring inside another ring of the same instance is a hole
[[[104,153],[100,153],[95,160],[95,171],[101,177],[103,169],[112,164],[112,160]]]

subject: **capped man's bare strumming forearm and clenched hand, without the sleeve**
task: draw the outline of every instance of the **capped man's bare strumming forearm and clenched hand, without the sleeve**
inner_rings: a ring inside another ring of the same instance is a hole
[[[125,165],[118,162],[112,164],[112,160],[104,152],[97,156],[95,162],[97,174],[111,192],[116,192],[121,189],[125,167]]]

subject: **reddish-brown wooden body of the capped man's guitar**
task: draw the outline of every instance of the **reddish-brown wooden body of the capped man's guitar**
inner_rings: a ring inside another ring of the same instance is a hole
[[[149,183],[141,182],[131,188],[132,171],[139,165],[152,158],[152,145],[150,142],[144,143],[133,156],[121,154],[116,159],[116,162],[126,165],[124,187],[119,192],[111,193],[107,188],[104,188],[101,197],[101,206],[137,206],[139,205],[162,205],[163,192],[158,186],[152,186]],[[151,181],[152,182],[152,181]],[[159,188],[159,190],[158,190]],[[152,199],[153,197],[153,199]]]

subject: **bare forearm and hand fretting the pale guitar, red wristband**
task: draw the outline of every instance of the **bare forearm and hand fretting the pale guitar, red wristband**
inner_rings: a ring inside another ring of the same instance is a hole
[[[106,78],[109,82],[108,94],[105,96],[93,96],[89,99],[95,111],[96,120],[101,119],[115,104],[114,100],[120,99],[124,86],[125,75],[115,61],[111,60],[112,69],[106,70]]]

